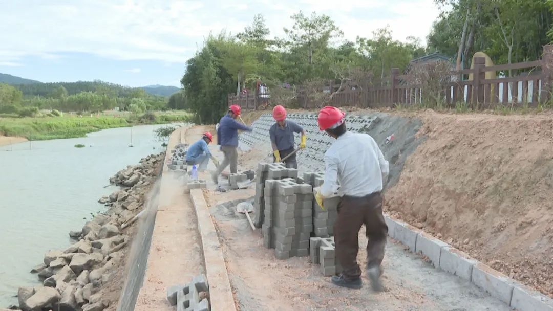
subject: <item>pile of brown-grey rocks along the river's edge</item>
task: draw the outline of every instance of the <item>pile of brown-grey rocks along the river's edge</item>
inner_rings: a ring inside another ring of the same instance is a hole
[[[142,210],[163,159],[164,154],[148,156],[109,178],[111,183],[122,186],[98,201],[109,209],[80,231],[71,231],[69,235],[76,242],[66,250],[46,252],[43,263],[31,270],[38,274],[44,287],[20,287],[17,296],[21,310],[102,311],[109,307],[112,302],[104,297],[102,287],[124,265],[125,247],[129,244],[121,225]]]

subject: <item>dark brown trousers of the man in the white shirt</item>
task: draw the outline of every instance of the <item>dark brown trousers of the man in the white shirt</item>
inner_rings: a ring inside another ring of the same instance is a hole
[[[338,219],[334,224],[334,243],[336,259],[342,266],[342,276],[346,281],[361,276],[357,263],[359,251],[359,230],[365,225],[367,243],[367,267],[380,266],[384,259],[384,246],[388,226],[382,214],[382,196],[380,192],[365,197],[343,196],[338,204]]]

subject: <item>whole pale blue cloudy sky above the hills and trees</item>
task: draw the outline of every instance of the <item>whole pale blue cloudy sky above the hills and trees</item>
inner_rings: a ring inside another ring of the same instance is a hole
[[[43,82],[103,80],[180,86],[186,60],[210,31],[233,34],[262,13],[271,36],[290,15],[329,15],[345,38],[389,25],[395,39],[424,41],[433,0],[0,0],[0,72]]]

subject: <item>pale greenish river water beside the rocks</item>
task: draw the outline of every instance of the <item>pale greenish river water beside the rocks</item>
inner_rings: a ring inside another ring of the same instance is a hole
[[[105,210],[97,200],[116,189],[103,188],[109,177],[164,150],[153,133],[159,126],[0,146],[0,308],[17,304],[19,286],[40,284],[29,271],[46,251],[65,250],[69,231]]]

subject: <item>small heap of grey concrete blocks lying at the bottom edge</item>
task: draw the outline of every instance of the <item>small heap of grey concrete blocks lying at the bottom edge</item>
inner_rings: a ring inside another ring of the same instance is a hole
[[[205,292],[203,296],[201,292]],[[207,300],[209,286],[205,275],[199,275],[186,285],[171,286],[167,289],[167,300],[176,305],[177,311],[209,311]]]

